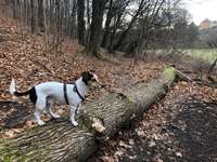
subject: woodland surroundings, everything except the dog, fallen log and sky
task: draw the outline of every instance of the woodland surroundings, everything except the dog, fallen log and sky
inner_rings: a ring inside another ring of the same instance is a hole
[[[91,90],[93,102],[175,65],[192,81],[175,83],[89,161],[215,161],[217,25],[204,22],[196,26],[182,0],[1,0],[1,139],[37,127],[29,100],[9,94],[12,77],[27,90],[95,69],[105,90]],[[68,116],[65,106],[54,109]]]

